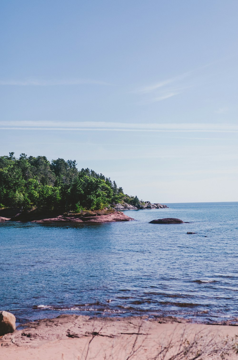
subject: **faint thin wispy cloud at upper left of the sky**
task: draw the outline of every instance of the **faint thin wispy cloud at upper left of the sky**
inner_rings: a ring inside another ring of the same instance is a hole
[[[53,79],[53,80],[42,80],[42,79],[25,79],[25,80],[0,80],[0,85],[12,85],[12,86],[57,86],[57,85],[82,85],[82,84],[96,84],[96,85],[111,85],[108,82],[97,81],[91,79]]]

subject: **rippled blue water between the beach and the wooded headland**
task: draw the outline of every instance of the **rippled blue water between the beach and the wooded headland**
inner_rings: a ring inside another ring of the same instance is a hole
[[[101,225],[1,223],[0,309],[18,322],[62,313],[238,318],[238,203],[168,206]],[[191,223],[148,224],[163,217]]]

